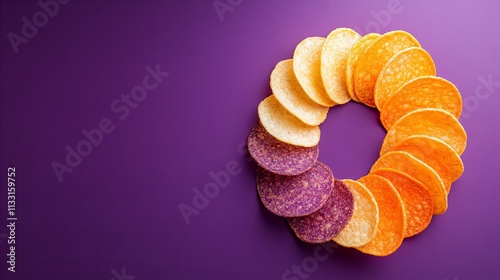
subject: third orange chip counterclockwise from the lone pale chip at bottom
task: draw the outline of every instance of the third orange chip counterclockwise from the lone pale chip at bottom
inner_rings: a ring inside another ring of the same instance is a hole
[[[448,208],[448,193],[439,175],[430,166],[407,152],[388,152],[373,164],[370,172],[392,168],[406,173],[422,183],[431,194],[434,214],[443,214]]]

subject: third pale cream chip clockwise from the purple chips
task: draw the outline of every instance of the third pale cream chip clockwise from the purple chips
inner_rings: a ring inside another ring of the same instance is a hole
[[[302,40],[293,53],[293,72],[309,98],[319,105],[331,107],[335,102],[328,97],[321,80],[321,48],[324,42],[323,37]]]

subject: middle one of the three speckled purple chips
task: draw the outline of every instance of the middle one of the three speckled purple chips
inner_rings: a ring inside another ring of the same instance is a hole
[[[260,199],[278,216],[300,217],[317,211],[330,197],[332,187],[332,171],[321,162],[297,176],[278,175],[257,167]]]

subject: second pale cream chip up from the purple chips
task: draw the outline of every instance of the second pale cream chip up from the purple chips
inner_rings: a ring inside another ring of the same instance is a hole
[[[279,103],[305,124],[315,126],[326,119],[328,107],[312,101],[293,73],[291,59],[280,61],[271,72],[271,90]]]

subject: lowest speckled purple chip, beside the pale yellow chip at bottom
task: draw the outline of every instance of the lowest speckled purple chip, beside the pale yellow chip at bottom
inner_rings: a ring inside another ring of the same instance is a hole
[[[354,197],[348,187],[335,179],[326,203],[318,211],[304,217],[288,218],[295,235],[309,243],[323,243],[337,236],[351,219]]]

